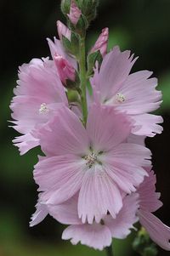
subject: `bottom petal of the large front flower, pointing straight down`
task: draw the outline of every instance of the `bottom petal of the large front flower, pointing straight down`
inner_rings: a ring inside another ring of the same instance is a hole
[[[78,198],[78,215],[82,223],[99,222],[108,211],[113,218],[122,208],[122,196],[116,184],[100,165],[88,169]]]

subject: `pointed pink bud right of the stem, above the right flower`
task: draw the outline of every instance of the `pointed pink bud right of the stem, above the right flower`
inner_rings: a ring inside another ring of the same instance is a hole
[[[98,40],[94,44],[94,47],[90,50],[90,54],[97,52],[98,50],[104,57],[105,54],[107,54],[107,43],[108,43],[108,37],[109,37],[109,29],[105,27],[101,34],[99,35]]]

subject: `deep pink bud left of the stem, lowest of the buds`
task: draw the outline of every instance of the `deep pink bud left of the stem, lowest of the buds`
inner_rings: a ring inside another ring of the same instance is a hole
[[[76,72],[74,67],[65,60],[61,55],[54,54],[54,63],[57,67],[59,78],[64,85],[66,85],[66,80],[75,81]]]

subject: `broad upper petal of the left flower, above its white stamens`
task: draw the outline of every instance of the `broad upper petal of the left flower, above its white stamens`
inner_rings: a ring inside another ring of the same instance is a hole
[[[40,62],[40,63],[39,63]],[[15,95],[37,96],[42,102],[67,103],[65,90],[57,77],[54,61],[52,60],[31,60],[29,64],[20,66],[20,80],[14,88]]]

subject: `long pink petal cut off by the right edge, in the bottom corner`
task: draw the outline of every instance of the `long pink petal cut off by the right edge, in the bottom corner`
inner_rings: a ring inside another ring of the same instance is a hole
[[[139,222],[144,226],[150,238],[164,250],[170,251],[170,227],[164,225],[152,213],[139,210]]]

